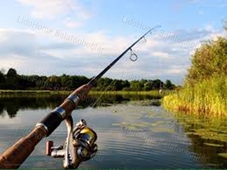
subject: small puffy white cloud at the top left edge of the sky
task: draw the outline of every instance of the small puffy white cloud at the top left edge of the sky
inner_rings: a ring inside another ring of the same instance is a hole
[[[32,7],[31,14],[37,19],[55,19],[63,17],[63,24],[69,28],[83,26],[91,18],[91,13],[77,0],[17,0],[22,5]],[[65,16],[72,16],[65,17]],[[72,19],[73,18],[73,19]]]

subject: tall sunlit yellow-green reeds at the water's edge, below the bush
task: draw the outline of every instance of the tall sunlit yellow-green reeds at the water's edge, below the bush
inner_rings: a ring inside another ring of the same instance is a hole
[[[215,77],[185,86],[163,98],[167,110],[198,114],[204,117],[227,117],[227,78]]]

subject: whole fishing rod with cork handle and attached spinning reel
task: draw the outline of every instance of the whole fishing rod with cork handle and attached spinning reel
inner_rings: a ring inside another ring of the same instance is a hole
[[[92,78],[87,84],[74,90],[59,107],[56,107],[38,122],[35,128],[27,136],[22,137],[13,146],[3,152],[0,155],[0,169],[19,168],[33,152],[35,146],[44,137],[51,135],[63,120],[66,122],[68,132],[65,149],[63,150],[62,146],[57,148],[53,147],[53,143],[49,142],[46,154],[53,157],[64,157],[64,168],[77,168],[80,162],[93,157],[94,153],[97,151],[97,145],[95,144],[97,134],[91,128],[87,127],[84,120],[81,120],[73,128],[71,113],[76,108],[79,101],[85,99],[91,88],[118,60],[120,60],[128,51],[132,52],[132,47],[141,39],[145,38],[148,33],[151,33],[152,30],[158,27],[160,26],[156,26],[142,35],[96,77]],[[131,55],[135,54],[131,53]]]

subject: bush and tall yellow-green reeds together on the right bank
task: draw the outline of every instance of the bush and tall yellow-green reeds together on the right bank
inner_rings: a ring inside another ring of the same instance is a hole
[[[165,96],[163,105],[203,116],[227,116],[227,39],[207,41],[196,50],[184,87]]]

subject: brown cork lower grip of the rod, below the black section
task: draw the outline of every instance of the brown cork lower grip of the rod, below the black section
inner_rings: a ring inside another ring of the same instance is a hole
[[[0,169],[19,168],[46,133],[43,127],[36,127],[27,136],[18,140],[0,155]]]

